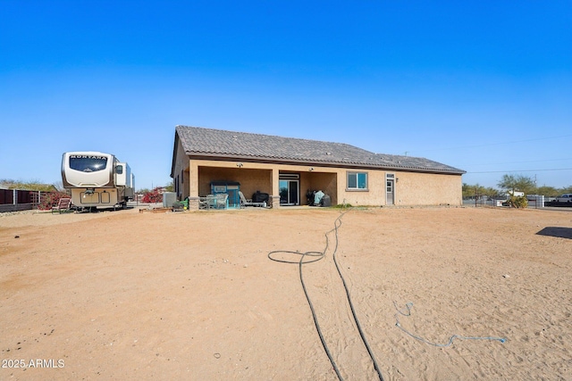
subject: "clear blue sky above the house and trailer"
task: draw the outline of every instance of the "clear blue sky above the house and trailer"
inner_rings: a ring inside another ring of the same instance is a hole
[[[572,2],[0,2],[0,178],[171,178],[178,124],[572,186]]]

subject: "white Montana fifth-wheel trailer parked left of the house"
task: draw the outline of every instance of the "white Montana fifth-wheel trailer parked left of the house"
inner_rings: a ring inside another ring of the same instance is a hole
[[[124,207],[133,199],[135,176],[126,162],[110,153],[63,153],[63,187],[80,207]]]

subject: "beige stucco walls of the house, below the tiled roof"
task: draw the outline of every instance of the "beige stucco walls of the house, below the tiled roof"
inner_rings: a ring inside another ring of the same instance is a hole
[[[181,162],[188,162],[187,156],[181,158]],[[175,166],[175,169],[177,168]],[[332,204],[385,205],[386,173],[395,175],[396,205],[460,205],[462,201],[460,175],[406,171],[346,170],[304,165],[191,160],[190,178],[189,180],[185,178],[185,184],[189,186],[190,196],[207,195],[210,193],[210,182],[214,180],[240,182],[240,190],[247,198],[257,190],[269,195],[278,195],[278,174],[282,171],[299,173],[299,200],[302,204],[306,203],[306,192],[309,189],[322,190],[326,195],[330,195]],[[346,188],[348,171],[367,173],[366,191]]]

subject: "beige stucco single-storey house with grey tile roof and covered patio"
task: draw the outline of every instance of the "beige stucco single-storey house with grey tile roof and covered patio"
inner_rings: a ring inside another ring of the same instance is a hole
[[[268,205],[305,205],[321,190],[332,205],[461,205],[464,170],[424,158],[371,153],[353,145],[177,126],[171,177],[179,200],[238,189]]]

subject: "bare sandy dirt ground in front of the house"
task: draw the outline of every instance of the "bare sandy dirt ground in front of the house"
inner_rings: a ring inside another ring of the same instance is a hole
[[[572,212],[501,208],[2,213],[0,379],[338,379],[271,251],[346,380],[572,380]]]

